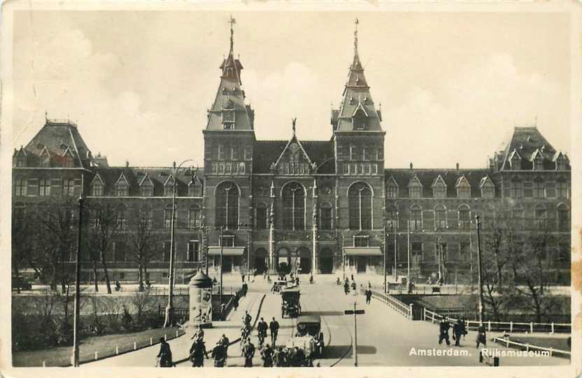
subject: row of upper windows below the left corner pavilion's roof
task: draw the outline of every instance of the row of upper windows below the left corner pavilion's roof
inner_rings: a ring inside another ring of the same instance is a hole
[[[80,180],[75,179],[15,179],[15,196],[76,195],[80,190]],[[56,190],[56,193],[55,193]]]

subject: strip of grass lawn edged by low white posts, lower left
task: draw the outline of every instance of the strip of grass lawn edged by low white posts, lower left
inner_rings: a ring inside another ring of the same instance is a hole
[[[159,337],[167,334],[168,339],[184,334],[183,330],[177,327],[157,328],[155,330],[145,330],[132,333],[118,333],[115,335],[104,335],[87,337],[81,340],[79,346],[80,362],[94,360],[95,351],[99,358],[115,356],[115,346],[119,346],[119,352],[131,351],[134,349],[134,342],[137,348],[150,345],[150,338],[156,343]],[[45,361],[46,366],[66,366],[71,363],[72,346],[59,346],[51,349],[39,349],[36,351],[18,351],[13,353],[13,365],[15,367],[42,366]]]

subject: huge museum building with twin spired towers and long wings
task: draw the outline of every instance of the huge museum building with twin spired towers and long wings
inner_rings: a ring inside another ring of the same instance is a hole
[[[357,34],[354,50],[329,140],[299,141],[294,125],[288,139],[257,140],[231,42],[203,132],[204,167],[181,169],[176,177],[171,167],[109,167],[92,155],[77,125],[47,119],[14,152],[14,211],[55,197],[76,200],[81,190],[87,202],[113,204],[120,228],[106,260],[111,278],[120,280],[137,278],[127,242],[136,213],[158,236],[148,277],[167,277],[174,179],[178,279],[206,264],[211,276],[218,272],[221,225],[223,272],[300,269],[341,276],[345,261],[347,274],[383,274],[385,263],[388,274],[395,264],[406,274],[410,255],[413,279],[437,272],[439,260],[449,277],[462,276],[476,261],[474,217],[486,223],[499,208],[525,223],[547,221],[557,236],[547,261],[569,269],[567,156],[536,127],[516,127],[488,167],[385,169],[382,114],[364,76]],[[82,260],[81,278],[93,279],[83,251]]]

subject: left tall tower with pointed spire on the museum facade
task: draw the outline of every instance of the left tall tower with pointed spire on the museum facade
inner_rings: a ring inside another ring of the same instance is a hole
[[[206,225],[213,230],[208,246],[220,246],[217,228],[223,227],[224,246],[247,248],[248,229],[241,225],[253,223],[251,177],[253,174],[253,144],[255,142],[254,111],[245,103],[241,81],[243,66],[234,57],[234,18],[229,19],[230,45],[228,56],[220,64],[220,85],[204,134],[204,208]],[[239,251],[239,249],[236,249]],[[212,253],[211,253],[212,255]],[[239,255],[227,255],[225,266],[246,267],[236,261]],[[242,269],[242,268],[241,268]]]

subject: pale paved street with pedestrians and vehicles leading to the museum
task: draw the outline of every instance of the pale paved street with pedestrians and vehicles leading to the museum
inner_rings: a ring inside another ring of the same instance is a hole
[[[346,309],[353,308],[354,300],[358,308],[366,311],[357,318],[357,353],[360,366],[439,366],[439,365],[479,365],[478,350],[475,348],[475,332],[462,342],[462,347],[439,346],[438,326],[423,322],[410,321],[397,314],[388,306],[378,300],[372,299],[371,304],[365,304],[364,296],[353,296],[352,293],[344,295],[343,288],[334,283],[335,276],[319,276],[313,285],[308,283],[308,276],[301,277],[301,309],[304,314],[318,314],[322,316],[322,332],[325,337],[325,358],[315,360],[315,364],[321,366],[353,366],[352,343],[354,339],[353,316],[343,314]],[[227,281],[225,281],[227,283]],[[358,286],[359,286],[358,282]],[[362,283],[367,284],[367,281]],[[264,297],[264,300],[262,298]],[[260,304],[262,306],[260,307]],[[229,339],[239,337],[241,316],[245,309],[253,316],[253,321],[260,308],[260,317],[267,323],[275,316],[281,324],[278,345],[285,344],[286,339],[294,330],[294,319],[281,319],[281,297],[278,294],[268,293],[267,282],[262,277],[250,284],[247,297],[241,300],[239,310],[232,313],[227,321],[215,322],[214,328],[205,330],[206,346],[210,350],[220,335],[225,333]],[[169,342],[173,359],[180,360],[187,357],[190,348],[190,335]],[[488,338],[492,335],[488,335]],[[452,342],[451,332],[451,342]],[[257,345],[257,332],[253,331],[253,343]],[[490,348],[506,351],[508,349],[499,344],[489,344]],[[434,351],[433,351],[434,348]],[[153,366],[159,347],[153,346],[140,351],[127,353],[122,356],[107,358],[86,366]],[[428,353],[453,352],[466,353],[464,356],[419,356],[426,350]],[[440,351],[440,352],[439,352]],[[415,355],[416,352],[416,355]],[[260,353],[256,353],[255,366],[260,365]],[[569,360],[546,356],[537,357],[502,357],[500,365],[567,365]],[[189,367],[189,361],[181,363],[180,367]],[[212,360],[206,360],[206,365],[211,366]],[[228,366],[242,366],[243,358],[238,344],[229,348]],[[484,364],[483,364],[484,365]]]

